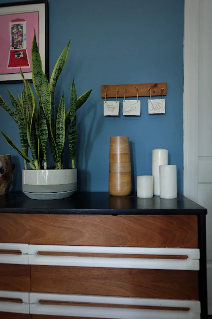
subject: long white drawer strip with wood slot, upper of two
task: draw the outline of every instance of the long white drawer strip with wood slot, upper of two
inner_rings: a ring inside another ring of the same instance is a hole
[[[29,264],[199,270],[199,249],[29,245]]]

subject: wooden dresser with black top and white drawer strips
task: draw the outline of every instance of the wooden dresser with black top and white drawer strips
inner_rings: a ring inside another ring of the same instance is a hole
[[[206,319],[207,210],[177,199],[0,197],[1,319]]]

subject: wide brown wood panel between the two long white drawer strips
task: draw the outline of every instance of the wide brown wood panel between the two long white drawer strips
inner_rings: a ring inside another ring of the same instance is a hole
[[[32,292],[198,300],[198,272],[31,266]]]

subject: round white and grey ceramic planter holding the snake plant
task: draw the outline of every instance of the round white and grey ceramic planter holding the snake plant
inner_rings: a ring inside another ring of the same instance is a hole
[[[22,170],[23,193],[32,199],[59,199],[77,190],[77,169]]]

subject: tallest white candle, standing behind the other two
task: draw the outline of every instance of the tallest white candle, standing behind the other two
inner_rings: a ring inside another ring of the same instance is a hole
[[[168,164],[168,151],[163,148],[157,148],[152,151],[152,175],[154,195],[160,195],[160,165]]]

